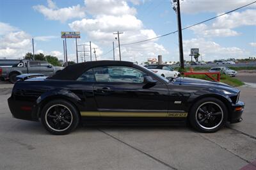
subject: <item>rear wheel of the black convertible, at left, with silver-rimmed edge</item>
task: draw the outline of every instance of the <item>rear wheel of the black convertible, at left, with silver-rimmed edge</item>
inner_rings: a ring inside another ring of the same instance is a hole
[[[80,114],[70,102],[61,99],[53,100],[42,109],[41,121],[51,134],[65,135],[78,126]]]

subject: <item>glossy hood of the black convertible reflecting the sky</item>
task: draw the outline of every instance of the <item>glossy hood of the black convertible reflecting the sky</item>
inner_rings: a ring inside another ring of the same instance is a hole
[[[188,77],[180,77],[179,79],[176,79],[173,84],[180,84],[180,85],[188,85],[188,86],[202,86],[204,88],[214,88],[214,89],[220,89],[225,90],[230,93],[238,93],[239,89],[233,88],[232,86],[229,86],[228,84],[225,84],[223,82],[215,82],[215,81],[205,81],[202,79],[193,79]]]

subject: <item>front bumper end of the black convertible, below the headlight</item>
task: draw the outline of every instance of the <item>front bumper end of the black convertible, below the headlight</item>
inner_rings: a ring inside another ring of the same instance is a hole
[[[244,102],[237,102],[237,104],[232,104],[231,106],[231,112],[229,116],[229,121],[230,123],[238,123],[242,121],[243,119],[241,118],[242,114],[244,111]]]

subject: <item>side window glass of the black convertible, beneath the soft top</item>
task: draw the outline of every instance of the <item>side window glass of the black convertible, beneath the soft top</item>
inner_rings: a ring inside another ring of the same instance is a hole
[[[93,68],[97,82],[143,83],[146,73],[128,66],[102,66]]]

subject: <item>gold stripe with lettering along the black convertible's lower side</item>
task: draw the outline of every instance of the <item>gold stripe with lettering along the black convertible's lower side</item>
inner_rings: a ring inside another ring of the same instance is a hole
[[[81,116],[186,118],[188,112],[81,112]]]

